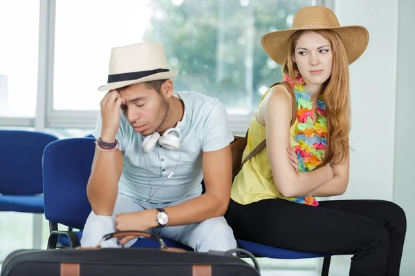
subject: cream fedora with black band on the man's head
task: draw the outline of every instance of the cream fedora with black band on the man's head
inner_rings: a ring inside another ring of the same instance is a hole
[[[172,79],[178,70],[170,71],[163,46],[141,42],[111,50],[108,81],[99,91],[113,90],[134,83]]]

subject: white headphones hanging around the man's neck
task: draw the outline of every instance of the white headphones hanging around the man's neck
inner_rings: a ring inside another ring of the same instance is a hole
[[[181,132],[180,126],[183,124],[183,121],[186,119],[186,110],[183,113],[183,118],[181,121],[177,122],[177,125],[174,128],[169,128],[166,130],[163,135],[160,136],[158,132],[154,132],[152,135],[145,137],[144,141],[142,141],[141,148],[144,152],[151,152],[157,144],[163,146],[163,148],[167,148],[169,150],[178,150],[181,147]],[[176,132],[176,135],[171,134],[172,132]]]

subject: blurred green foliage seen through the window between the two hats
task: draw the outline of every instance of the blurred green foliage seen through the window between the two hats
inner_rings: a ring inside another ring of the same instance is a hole
[[[230,113],[246,113],[281,79],[261,36],[289,28],[304,5],[312,1],[152,1],[144,39],[167,48],[170,66],[180,69],[178,90],[202,92],[219,98]]]

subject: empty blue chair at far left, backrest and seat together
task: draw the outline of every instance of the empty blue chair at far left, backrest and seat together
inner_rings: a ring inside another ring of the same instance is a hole
[[[57,139],[44,132],[0,130],[0,211],[44,213],[42,155]]]

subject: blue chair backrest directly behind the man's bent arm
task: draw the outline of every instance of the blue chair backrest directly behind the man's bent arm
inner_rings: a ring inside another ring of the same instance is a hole
[[[44,151],[44,207],[48,221],[82,229],[91,213],[86,185],[95,152],[94,138],[61,139]]]

